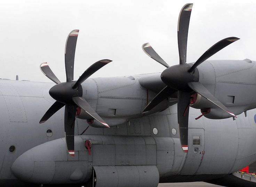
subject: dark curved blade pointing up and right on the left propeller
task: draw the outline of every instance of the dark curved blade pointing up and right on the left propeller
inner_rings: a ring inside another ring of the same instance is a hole
[[[93,73],[101,69],[104,65],[112,62],[112,60],[104,59],[100,60],[98,62],[95,62],[93,65],[91,65],[83,74],[79,77],[77,82],[72,86],[72,88],[77,88],[83,81],[85,81],[88,77],[90,77]]]

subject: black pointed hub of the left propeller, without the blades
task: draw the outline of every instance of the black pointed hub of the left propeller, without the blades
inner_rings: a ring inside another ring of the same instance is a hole
[[[75,81],[70,82],[62,82],[56,84],[49,90],[49,94],[55,100],[65,103],[65,104],[72,104],[72,97],[73,96],[82,96],[82,87],[79,85],[78,88],[73,89],[72,86],[75,84]]]

